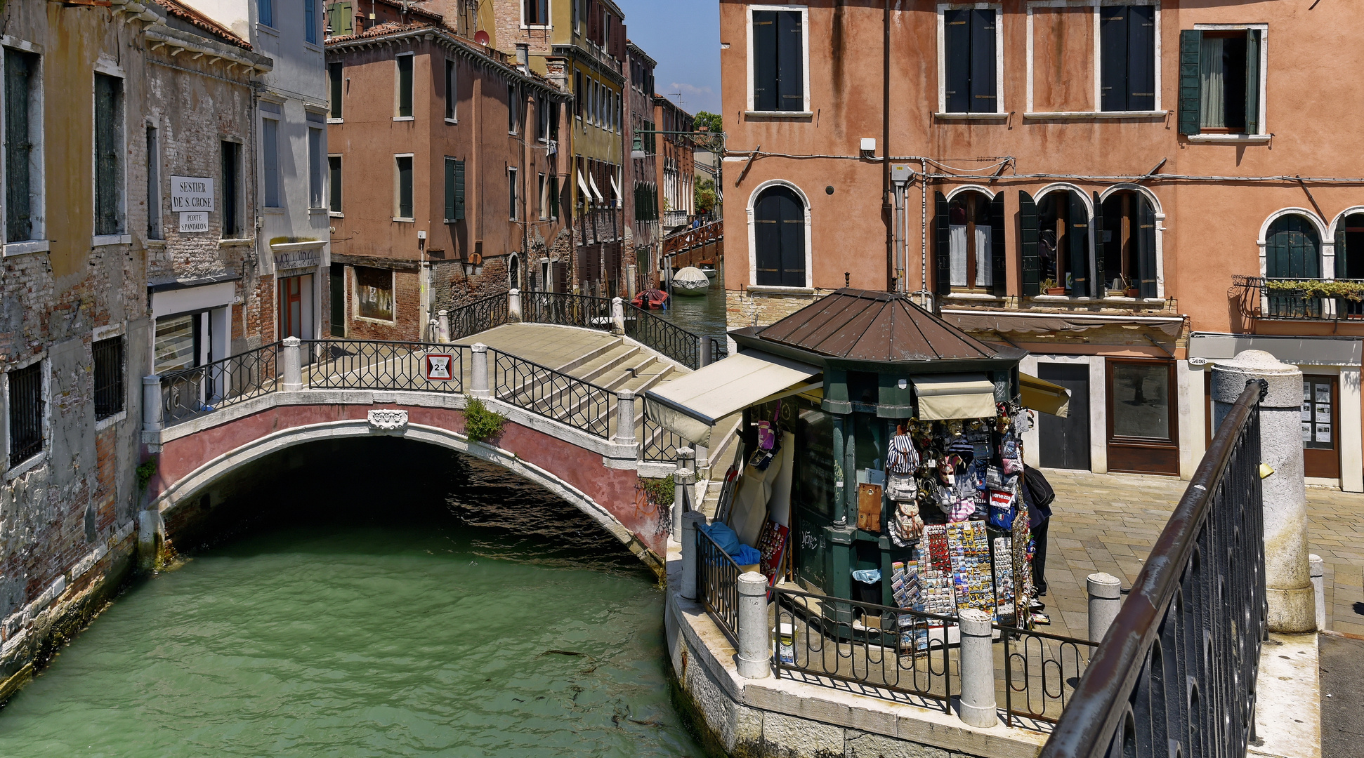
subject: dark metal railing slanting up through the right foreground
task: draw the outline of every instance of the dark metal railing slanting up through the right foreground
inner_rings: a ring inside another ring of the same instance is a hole
[[[1267,634],[1266,389],[1222,420],[1042,758],[1245,755]]]

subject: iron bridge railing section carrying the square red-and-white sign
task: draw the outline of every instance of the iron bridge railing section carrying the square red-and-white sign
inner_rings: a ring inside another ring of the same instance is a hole
[[[462,393],[468,346],[435,342],[308,339],[303,383],[314,390]],[[450,379],[427,379],[427,356],[450,356]]]

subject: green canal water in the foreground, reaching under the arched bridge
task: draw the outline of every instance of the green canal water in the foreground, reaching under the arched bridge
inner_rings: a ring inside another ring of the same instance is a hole
[[[378,439],[224,507],[0,710],[0,755],[702,755],[653,574],[551,494]]]

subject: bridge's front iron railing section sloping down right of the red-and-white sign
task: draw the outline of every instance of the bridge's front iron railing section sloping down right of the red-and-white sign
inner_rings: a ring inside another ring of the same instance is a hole
[[[492,397],[502,402],[610,439],[615,397],[610,390],[492,349],[488,374]]]

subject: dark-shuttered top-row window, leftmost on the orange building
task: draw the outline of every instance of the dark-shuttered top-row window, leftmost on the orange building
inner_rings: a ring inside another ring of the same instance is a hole
[[[805,112],[805,11],[753,11],[752,109]]]

